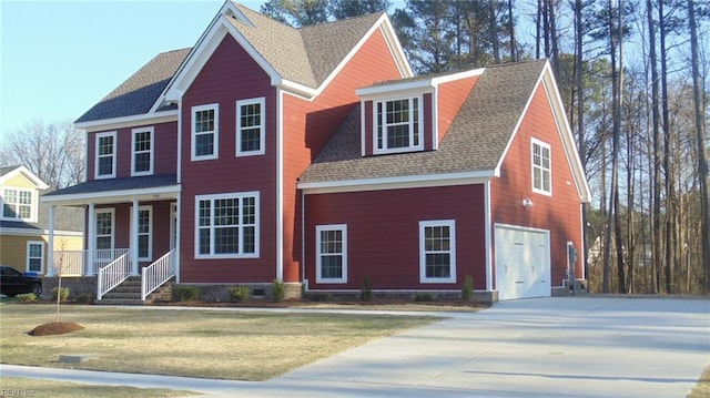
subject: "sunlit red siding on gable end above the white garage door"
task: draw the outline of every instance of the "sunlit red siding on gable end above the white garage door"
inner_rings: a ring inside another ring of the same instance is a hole
[[[551,196],[532,192],[532,137],[551,147]],[[506,155],[500,177],[491,182],[494,224],[504,223],[550,231],[552,286],[561,285],[566,277],[566,243],[570,241],[575,246],[581,247],[581,202],[560,140],[547,94],[540,84]],[[523,207],[523,200],[526,197],[532,200],[531,208]],[[582,275],[581,269],[581,261],[578,261],[576,275]]]

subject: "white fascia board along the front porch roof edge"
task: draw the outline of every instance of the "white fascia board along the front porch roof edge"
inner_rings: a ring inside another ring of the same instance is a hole
[[[158,186],[152,188],[101,191],[71,195],[41,196],[40,202],[60,206],[83,205],[89,203],[121,203],[140,201],[164,201],[176,198],[181,192],[181,185]]]

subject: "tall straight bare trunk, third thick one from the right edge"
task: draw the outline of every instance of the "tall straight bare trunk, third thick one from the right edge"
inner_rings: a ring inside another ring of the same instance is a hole
[[[651,279],[651,290],[653,294],[658,293],[659,279],[658,267],[661,263],[661,164],[660,164],[660,118],[658,114],[658,68],[656,57],[656,28],[653,27],[653,6],[651,0],[646,0],[646,13],[648,18],[648,35],[649,35],[649,63],[651,67],[651,115],[653,120],[652,125],[652,141],[653,141],[653,201],[652,201],[652,214],[651,231],[653,238],[651,241],[651,271],[653,277]]]

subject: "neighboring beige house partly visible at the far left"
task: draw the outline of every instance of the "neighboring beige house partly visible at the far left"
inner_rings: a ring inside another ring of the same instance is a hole
[[[49,206],[40,195],[49,186],[24,166],[0,167],[0,264],[20,272],[47,273]],[[54,251],[83,248],[82,208],[54,214]]]

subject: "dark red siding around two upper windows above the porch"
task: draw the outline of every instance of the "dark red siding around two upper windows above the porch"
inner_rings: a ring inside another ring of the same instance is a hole
[[[153,127],[153,175],[176,174],[178,171],[178,122],[139,124],[130,127],[108,130],[103,132],[116,132],[116,178],[131,176],[131,145],[133,140],[133,129]],[[88,134],[87,151],[87,180],[94,180],[94,161],[97,150],[97,134],[102,132],[91,132]]]

